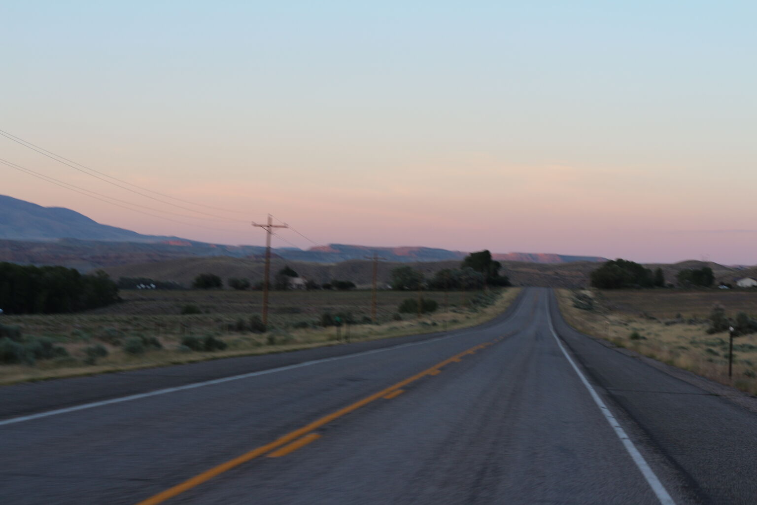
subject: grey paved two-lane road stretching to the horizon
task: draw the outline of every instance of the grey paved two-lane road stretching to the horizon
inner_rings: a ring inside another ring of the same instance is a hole
[[[2,503],[757,503],[755,475],[757,416],[546,289],[447,335],[0,388]]]

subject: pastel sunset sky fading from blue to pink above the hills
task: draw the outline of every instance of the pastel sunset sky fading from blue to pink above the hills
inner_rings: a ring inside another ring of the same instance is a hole
[[[0,194],[226,244],[262,244],[249,222],[272,213],[323,244],[757,263],[755,2],[7,0],[0,19],[0,129],[233,212],[4,137],[4,160],[184,223],[6,165]]]

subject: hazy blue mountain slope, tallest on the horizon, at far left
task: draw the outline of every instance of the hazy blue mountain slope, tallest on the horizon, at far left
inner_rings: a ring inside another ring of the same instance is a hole
[[[107,226],[63,207],[42,207],[0,195],[0,238],[48,241],[80,238],[113,242],[158,242],[175,237],[142,235]]]

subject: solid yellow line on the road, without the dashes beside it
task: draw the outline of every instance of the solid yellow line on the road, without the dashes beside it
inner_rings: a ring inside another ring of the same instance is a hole
[[[482,349],[484,347],[485,347],[484,345],[478,344],[471,349]],[[279,447],[287,445],[290,442],[295,441],[300,437],[304,437],[304,435],[308,435],[311,432],[314,432],[316,429],[319,429],[321,426],[324,426],[328,424],[329,422],[332,422],[333,420],[338,419],[341,416],[344,416],[350,412],[353,412],[354,410],[357,410],[360,407],[364,407],[367,404],[371,403],[372,401],[378,400],[378,398],[386,397],[386,395],[391,394],[392,392],[397,391],[398,389],[404,388],[406,385],[410,384],[411,382],[415,382],[418,379],[421,379],[422,377],[425,377],[428,375],[435,375],[433,374],[433,372],[435,371],[438,372],[438,367],[448,365],[450,363],[453,363],[456,360],[459,360],[460,357],[465,356],[465,354],[471,349],[463,351],[459,354],[455,354],[453,357],[447,358],[441,363],[437,363],[434,366],[431,366],[431,368],[423,370],[421,373],[416,373],[416,375],[412,377],[408,377],[407,379],[403,379],[400,382],[397,382],[397,384],[391,385],[388,388],[383,389],[382,391],[378,391],[378,393],[371,394],[370,396],[365,397],[360,401],[356,401],[354,404],[348,405],[347,407],[342,407],[341,409],[336,410],[335,412],[332,412],[327,416],[323,416],[322,418],[317,419],[316,421],[310,422],[310,424],[307,424],[303,426],[302,428],[295,429],[294,432],[289,432],[286,435],[283,435],[282,437],[276,439],[275,441],[270,442],[269,444],[261,445],[260,447],[257,447],[256,449],[253,449],[245,454],[242,454],[241,456],[235,457],[233,460],[226,461],[226,463],[221,463],[220,465],[215,466],[209,470],[206,470],[205,472],[202,472],[199,475],[195,475],[195,477],[192,477],[192,479],[182,482],[179,485],[175,485],[173,486],[173,488],[168,488],[165,491],[161,491],[160,493],[155,494],[152,497],[149,497],[147,500],[140,501],[139,503],[137,503],[137,505],[157,505],[158,503],[163,503],[165,500],[176,497],[179,494],[182,494],[183,492],[188,491],[189,489],[192,489],[198,485],[201,485],[203,482],[207,482],[210,479],[213,479],[213,477],[220,475],[223,472],[226,472],[227,470],[235,468],[236,466],[239,466],[242,463],[247,463],[250,460],[254,460],[257,457],[260,457],[263,454],[266,454],[270,450],[278,449]],[[294,447],[294,448],[297,448],[297,447]]]

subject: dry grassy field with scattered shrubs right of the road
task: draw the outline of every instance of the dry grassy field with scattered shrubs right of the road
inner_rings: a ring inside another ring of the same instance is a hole
[[[574,307],[575,292],[561,289],[558,299],[565,319],[579,331],[757,394],[757,334],[734,338],[734,376],[729,379],[728,334],[706,332],[715,304],[723,305],[731,318],[740,311],[757,318],[757,292],[582,291],[593,297],[595,310]]]

